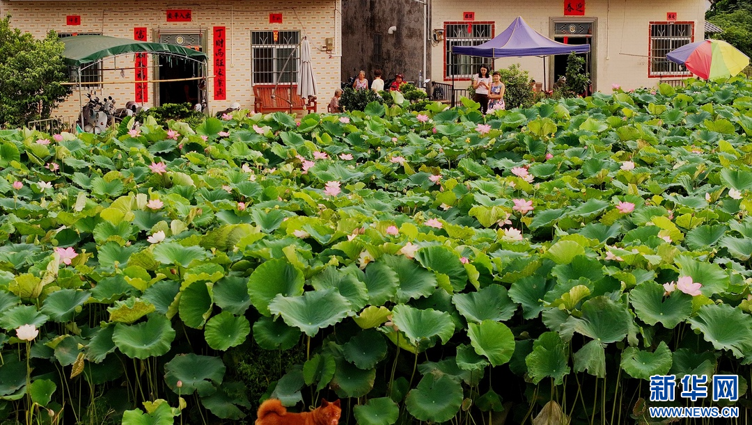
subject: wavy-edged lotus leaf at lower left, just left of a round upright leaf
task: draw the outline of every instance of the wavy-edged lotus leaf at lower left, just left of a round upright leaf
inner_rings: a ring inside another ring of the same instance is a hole
[[[112,341],[123,354],[142,360],[165,354],[173,339],[175,330],[170,326],[170,320],[156,314],[150,315],[147,321],[130,326],[116,324],[112,333]]]

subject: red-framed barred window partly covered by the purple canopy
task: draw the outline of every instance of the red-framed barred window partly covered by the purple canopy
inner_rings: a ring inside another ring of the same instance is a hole
[[[478,46],[493,38],[493,23],[444,23],[444,77],[470,78],[484,58],[455,55],[453,46]]]

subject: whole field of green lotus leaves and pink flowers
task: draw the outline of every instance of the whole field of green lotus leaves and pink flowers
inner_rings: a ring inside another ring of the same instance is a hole
[[[0,131],[0,419],[747,423],[750,135],[747,80]]]

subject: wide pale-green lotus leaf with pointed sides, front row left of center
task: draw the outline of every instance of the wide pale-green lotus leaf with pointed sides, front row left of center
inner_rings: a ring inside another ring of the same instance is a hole
[[[285,323],[299,328],[308,336],[338,324],[352,313],[350,303],[336,289],[308,291],[299,297],[279,294],[269,303],[269,311],[281,315]]]

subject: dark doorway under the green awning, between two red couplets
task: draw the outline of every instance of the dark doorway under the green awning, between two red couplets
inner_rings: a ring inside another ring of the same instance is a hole
[[[155,37],[159,43],[175,44],[180,47],[205,51],[205,36],[203,32],[158,33]],[[179,56],[159,55],[156,66],[156,80],[184,80],[203,77],[202,65],[199,62],[183,59]],[[157,94],[155,105],[189,103],[192,106],[202,104],[206,92],[203,80],[167,81],[155,83],[154,92]]]

